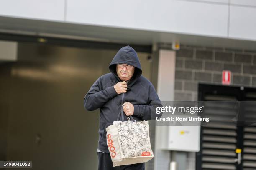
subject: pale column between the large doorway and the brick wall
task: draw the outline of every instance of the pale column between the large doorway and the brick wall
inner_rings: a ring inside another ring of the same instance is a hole
[[[174,100],[175,51],[159,50],[157,92],[161,101]],[[160,150],[168,127],[156,126],[154,170],[169,170],[171,152]]]

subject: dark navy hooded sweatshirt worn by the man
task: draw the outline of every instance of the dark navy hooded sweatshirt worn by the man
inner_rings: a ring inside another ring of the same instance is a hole
[[[133,65],[133,77],[127,81],[127,92],[117,94],[114,85],[122,82],[116,73],[116,64]],[[130,102],[134,106],[133,118],[136,121],[155,119],[156,107],[162,107],[152,83],[141,75],[141,63],[136,51],[125,46],[121,48],[109,65],[111,73],[102,75],[92,85],[84,97],[84,108],[88,111],[100,109],[99,149],[109,153],[106,142],[106,130],[113,121],[117,121],[121,105]],[[122,103],[122,95],[124,95]],[[126,119],[125,115],[125,120]]]

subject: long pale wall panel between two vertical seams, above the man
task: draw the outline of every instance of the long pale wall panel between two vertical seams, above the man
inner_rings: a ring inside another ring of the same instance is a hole
[[[228,5],[180,0],[131,0],[128,4],[68,0],[67,22],[225,37]]]

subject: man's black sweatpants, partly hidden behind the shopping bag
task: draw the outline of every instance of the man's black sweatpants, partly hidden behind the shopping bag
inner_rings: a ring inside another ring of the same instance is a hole
[[[109,153],[98,152],[98,170],[145,170],[145,163],[113,167]]]

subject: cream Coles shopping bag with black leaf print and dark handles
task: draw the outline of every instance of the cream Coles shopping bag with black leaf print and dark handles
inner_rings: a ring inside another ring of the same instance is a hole
[[[122,104],[123,104],[122,96]],[[123,107],[118,115],[119,122],[106,128],[107,145],[113,166],[144,163],[151,160],[154,154],[151,150],[148,121],[135,121],[129,116],[124,121]]]

